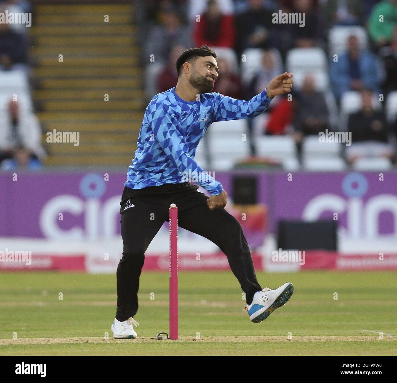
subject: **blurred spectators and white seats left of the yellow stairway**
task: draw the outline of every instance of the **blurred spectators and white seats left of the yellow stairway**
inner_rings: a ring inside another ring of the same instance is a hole
[[[6,11],[29,13],[31,4],[1,0],[0,12]],[[5,170],[39,169],[40,159],[46,156],[29,87],[30,45],[24,24],[0,23],[0,168]]]

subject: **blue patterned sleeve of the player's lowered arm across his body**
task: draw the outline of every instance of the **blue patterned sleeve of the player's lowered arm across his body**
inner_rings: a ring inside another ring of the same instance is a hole
[[[156,117],[160,115],[160,117]],[[166,156],[177,169],[187,177],[197,177],[194,182],[208,190],[211,195],[221,194],[222,185],[213,177],[206,174],[204,169],[189,155],[183,129],[179,121],[166,106],[156,110],[152,121],[154,138],[164,150]]]

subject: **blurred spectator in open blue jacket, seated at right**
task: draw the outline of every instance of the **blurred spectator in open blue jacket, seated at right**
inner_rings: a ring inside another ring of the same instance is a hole
[[[364,87],[379,91],[381,68],[376,56],[360,49],[358,38],[349,36],[347,52],[332,62],[330,79],[335,98],[339,101],[348,90],[362,90]]]

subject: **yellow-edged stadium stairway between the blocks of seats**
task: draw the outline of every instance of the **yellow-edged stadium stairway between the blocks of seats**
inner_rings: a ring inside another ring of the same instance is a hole
[[[33,99],[49,154],[46,165],[127,166],[143,116],[133,6],[33,3]],[[46,132],[54,129],[79,132],[79,146],[47,143]]]

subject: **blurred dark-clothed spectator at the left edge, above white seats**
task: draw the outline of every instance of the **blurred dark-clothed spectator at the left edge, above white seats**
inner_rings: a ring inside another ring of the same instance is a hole
[[[23,38],[0,23],[0,70],[25,69],[27,46]]]

